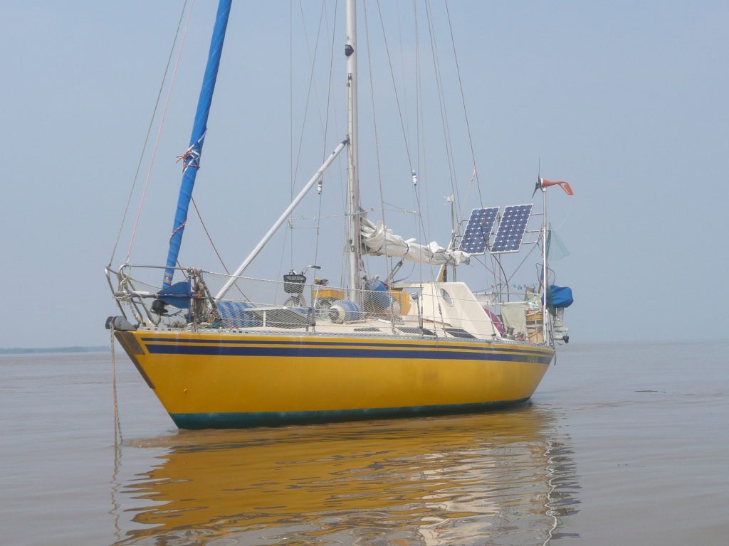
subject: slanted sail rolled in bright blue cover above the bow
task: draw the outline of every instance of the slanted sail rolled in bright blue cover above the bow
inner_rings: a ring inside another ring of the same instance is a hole
[[[162,282],[163,288],[168,288],[172,284],[174,267],[177,264],[177,256],[179,255],[180,245],[182,244],[182,232],[184,232],[184,226],[187,223],[187,209],[190,207],[192,188],[195,186],[195,178],[200,168],[200,154],[202,154],[203,141],[208,130],[208,114],[210,114],[210,105],[213,100],[213,91],[215,90],[215,80],[218,76],[220,55],[223,50],[223,41],[225,40],[225,29],[227,28],[228,15],[230,15],[231,2],[232,0],[220,0],[218,4],[213,36],[210,41],[208,64],[205,68],[205,76],[203,76],[203,87],[200,89],[198,110],[195,112],[195,122],[192,124],[190,147],[182,155],[182,183],[180,183],[175,220],[170,237],[170,248],[167,254],[167,264]]]

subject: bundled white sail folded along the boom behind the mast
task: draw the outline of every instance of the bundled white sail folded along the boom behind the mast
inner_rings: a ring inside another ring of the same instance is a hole
[[[421,264],[442,266],[445,264],[459,266],[468,264],[471,259],[469,253],[462,250],[448,250],[437,242],[428,245],[418,245],[414,239],[405,240],[391,229],[387,229],[382,221],[375,225],[364,215],[359,220],[359,229],[362,233],[362,242],[367,248],[367,254],[373,256],[397,256]]]

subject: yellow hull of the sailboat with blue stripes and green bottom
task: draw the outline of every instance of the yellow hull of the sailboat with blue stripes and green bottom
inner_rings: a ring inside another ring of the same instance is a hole
[[[520,403],[554,351],[530,344],[117,331],[180,428],[471,411]]]

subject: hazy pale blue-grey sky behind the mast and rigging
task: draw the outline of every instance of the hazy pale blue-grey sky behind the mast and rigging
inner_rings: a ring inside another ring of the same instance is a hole
[[[104,266],[182,2],[4,0],[0,5],[0,347],[105,344],[104,320],[115,306]],[[319,167],[324,150],[344,136],[339,30],[330,128],[326,146],[322,143],[332,1],[326,4],[316,54],[316,86],[303,116],[321,2],[301,5],[304,17],[298,2],[235,1],[230,15],[195,197],[231,268],[287,205],[292,163],[298,188]],[[430,4],[453,172],[463,198],[472,162],[443,5]],[[408,209],[413,207],[409,162],[376,7],[368,2],[382,183],[391,208]],[[451,0],[448,7],[483,204],[528,202],[540,164],[545,178],[567,180],[574,188],[571,198],[552,190],[549,204],[570,253],[553,266],[558,284],[574,289],[575,304],[566,315],[572,340],[725,339],[720,309],[729,269],[724,240],[729,3]],[[412,2],[383,1],[381,8],[411,159],[421,173],[421,196],[435,211],[426,218],[427,237],[445,244],[450,220],[443,197],[451,189],[424,5],[418,8],[420,119],[429,136],[419,147]],[[190,138],[214,9],[212,1],[195,2],[134,263],[165,261],[181,174],[174,157]],[[338,23],[342,15],[340,5]],[[359,26],[360,116],[371,118],[362,13]],[[376,208],[371,124],[363,123],[360,138],[363,183],[369,188],[363,205]],[[140,184],[148,165],[145,160]],[[330,202],[340,201],[342,178],[343,165],[337,164],[325,180]],[[469,197],[465,210],[479,206],[475,194]],[[139,194],[131,223],[138,205]],[[316,199],[297,211],[317,214]],[[402,223],[399,231],[414,225],[412,215],[387,214],[388,223]],[[378,219],[377,212],[372,215]],[[293,255],[282,254],[282,235],[251,273],[277,275],[291,261],[296,268],[311,263],[311,226],[313,221],[297,221],[302,229],[295,234]],[[116,266],[125,259],[129,228],[130,221]],[[219,270],[196,218],[188,232],[182,262]],[[338,248],[321,245],[320,256],[338,267]],[[333,270],[327,275],[338,277]],[[534,273],[527,273],[523,281],[532,282]]]

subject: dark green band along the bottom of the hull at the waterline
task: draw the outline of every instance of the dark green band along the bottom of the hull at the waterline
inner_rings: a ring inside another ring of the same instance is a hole
[[[465,414],[476,411],[511,408],[521,405],[521,400],[503,400],[472,404],[420,405],[403,408],[364,408],[324,411],[266,411],[255,413],[225,414],[170,414],[180,429],[226,429],[247,427],[281,427],[286,424],[311,424],[363,419],[384,419],[416,415]]]

